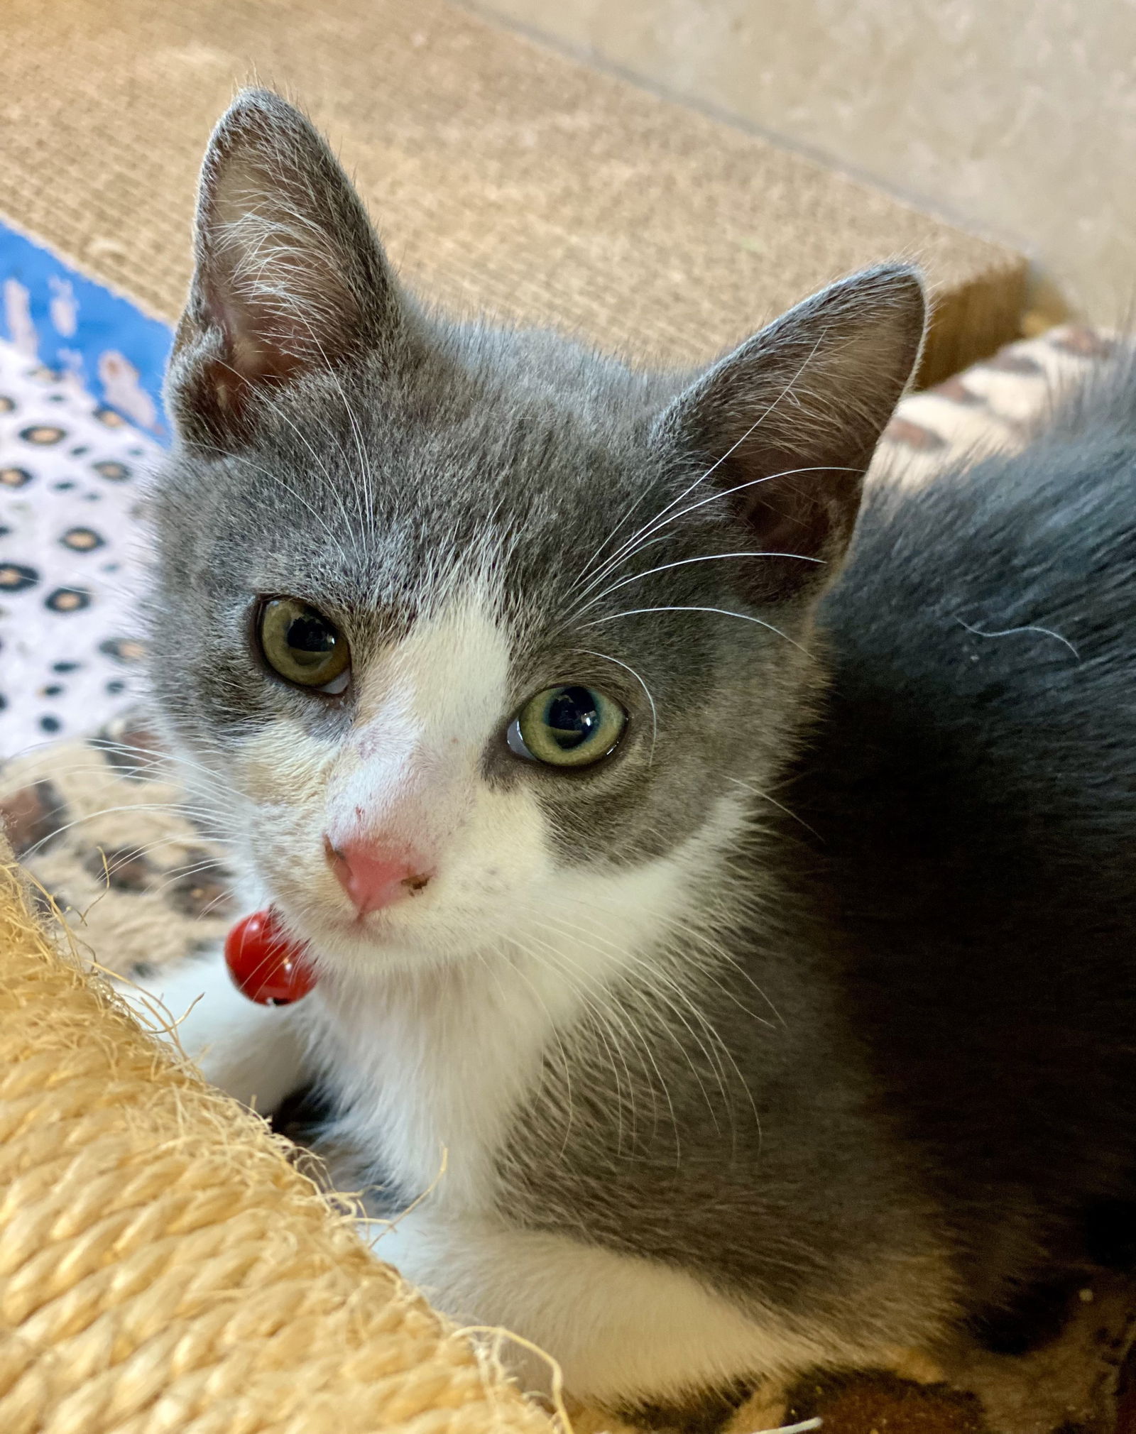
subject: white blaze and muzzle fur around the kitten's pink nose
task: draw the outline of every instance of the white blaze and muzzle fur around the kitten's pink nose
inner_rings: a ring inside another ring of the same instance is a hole
[[[469,594],[356,673],[359,716],[333,744],[278,724],[245,749],[252,865],[333,978],[466,959],[502,912],[549,875],[546,820],[524,786],[492,790],[481,764],[509,716],[509,644]],[[359,921],[327,866],[334,846],[412,850],[435,873],[413,899]]]

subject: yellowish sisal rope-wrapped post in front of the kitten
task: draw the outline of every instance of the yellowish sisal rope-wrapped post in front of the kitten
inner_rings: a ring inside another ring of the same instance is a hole
[[[0,860],[0,1431],[551,1434]]]

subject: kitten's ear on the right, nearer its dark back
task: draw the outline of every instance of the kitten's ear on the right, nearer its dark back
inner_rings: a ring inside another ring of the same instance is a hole
[[[693,478],[704,472],[687,502],[717,489],[747,546],[828,565],[754,559],[754,601],[815,588],[843,555],[865,469],[918,363],[925,313],[914,268],[865,270],[789,310],[660,417],[657,440]]]

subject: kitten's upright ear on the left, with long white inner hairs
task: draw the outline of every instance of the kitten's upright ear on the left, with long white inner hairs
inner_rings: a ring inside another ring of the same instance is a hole
[[[166,396],[184,437],[238,440],[260,393],[390,341],[394,277],[359,195],[313,125],[245,90],[201,171],[197,268]]]

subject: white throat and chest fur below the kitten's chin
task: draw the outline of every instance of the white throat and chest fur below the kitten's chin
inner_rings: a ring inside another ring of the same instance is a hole
[[[729,817],[720,813],[711,836],[638,868],[549,869],[513,893],[506,938],[499,919],[481,941],[468,931],[463,962],[412,974],[400,961],[386,978],[361,979],[351,967],[317,988],[303,1018],[351,1110],[346,1130],[409,1197],[436,1184],[436,1209],[493,1207],[495,1157],[545,1054],[555,1058],[559,1032],[602,1004],[617,979],[641,971],[688,909],[691,876],[733,835]],[[549,1139],[562,1140],[564,1130]]]

